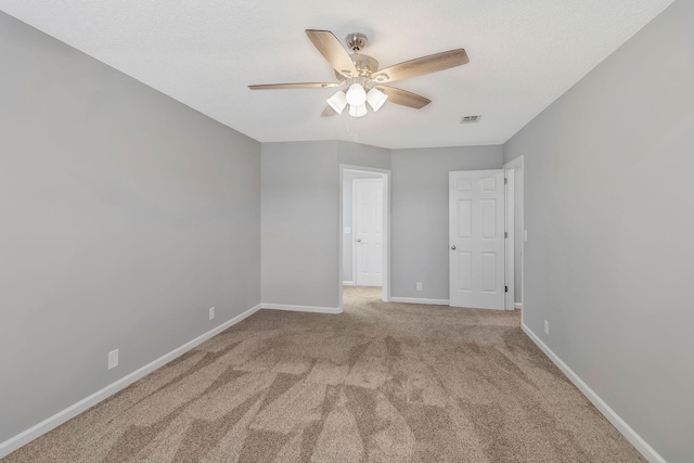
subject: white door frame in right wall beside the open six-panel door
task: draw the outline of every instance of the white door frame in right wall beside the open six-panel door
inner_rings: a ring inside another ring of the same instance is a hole
[[[503,165],[507,180],[506,184],[506,223],[509,231],[509,244],[510,258],[506,259],[506,274],[510,282],[510,305],[506,304],[506,309],[523,309],[523,298],[525,296],[525,166],[523,156],[518,156],[513,160]],[[516,187],[518,194],[516,193]],[[510,201],[509,201],[510,200]],[[511,207],[509,207],[511,204]],[[520,208],[520,303],[515,303],[515,209]],[[513,288],[513,291],[511,291]],[[523,312],[520,313],[523,317]]]

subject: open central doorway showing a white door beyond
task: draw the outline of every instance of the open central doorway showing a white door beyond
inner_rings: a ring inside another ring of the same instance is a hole
[[[388,301],[389,171],[340,166],[340,308],[344,291]]]

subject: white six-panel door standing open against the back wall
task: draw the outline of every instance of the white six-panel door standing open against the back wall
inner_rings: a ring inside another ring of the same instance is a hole
[[[503,170],[449,173],[450,305],[504,309]]]

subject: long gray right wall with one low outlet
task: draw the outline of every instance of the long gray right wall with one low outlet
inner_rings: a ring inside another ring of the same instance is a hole
[[[525,323],[669,462],[694,455],[692,18],[672,3],[504,145]]]

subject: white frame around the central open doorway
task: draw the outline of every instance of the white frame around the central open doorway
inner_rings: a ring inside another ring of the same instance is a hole
[[[339,165],[339,196],[337,211],[337,255],[338,255],[338,272],[337,272],[337,300],[338,307],[343,309],[343,185],[345,170],[356,170],[358,172],[381,173],[383,176],[383,286],[382,300],[390,301],[390,170],[378,169],[375,167],[352,166],[349,164]],[[354,268],[352,268],[354,272]]]

